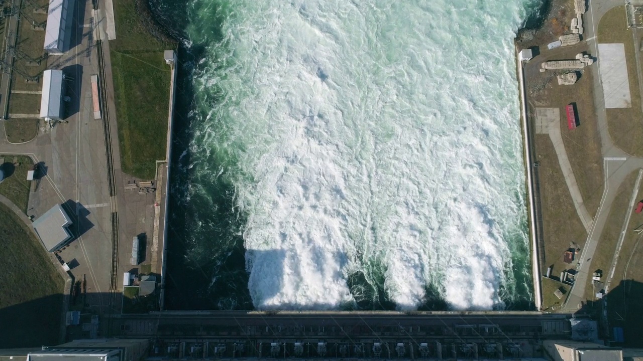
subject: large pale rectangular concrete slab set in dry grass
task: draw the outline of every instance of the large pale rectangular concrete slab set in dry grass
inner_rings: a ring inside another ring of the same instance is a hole
[[[598,44],[605,108],[630,108],[628,67],[624,44]],[[631,59],[630,61],[634,61]]]

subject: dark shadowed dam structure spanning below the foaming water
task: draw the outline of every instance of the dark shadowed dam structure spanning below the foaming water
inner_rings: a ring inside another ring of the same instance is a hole
[[[114,319],[113,334],[151,338],[166,358],[542,357],[569,339],[572,315],[538,312],[158,312]],[[156,350],[156,351],[154,351]]]

